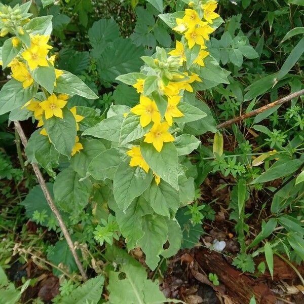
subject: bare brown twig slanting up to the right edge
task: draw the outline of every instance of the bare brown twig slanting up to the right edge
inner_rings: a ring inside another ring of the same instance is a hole
[[[272,102],[272,103],[269,103],[269,104],[267,104],[267,105],[264,105],[264,106],[262,106],[262,107],[260,107],[260,108],[258,108],[258,109],[256,109],[256,110],[253,110],[253,111],[251,111],[251,112],[245,113],[245,114],[243,114],[243,115],[241,115],[241,116],[239,116],[239,117],[236,117],[236,118],[234,118],[234,119],[231,119],[231,120],[229,120],[229,121],[223,122],[223,123],[217,125],[216,128],[217,128],[217,129],[222,129],[222,128],[225,128],[225,127],[229,127],[229,126],[231,126],[232,124],[235,124],[235,123],[237,123],[237,122],[239,122],[239,121],[242,121],[242,120],[244,120],[244,119],[246,119],[246,118],[255,116],[255,115],[257,115],[257,114],[259,114],[259,113],[261,113],[261,112],[263,112],[263,111],[265,111],[265,110],[268,110],[268,109],[270,109],[270,108],[273,108],[273,107],[275,107],[275,106],[277,106],[277,105],[281,105],[281,104],[283,104],[283,103],[285,103],[285,102],[287,102],[287,101],[290,101],[290,100],[293,99],[293,98],[297,98],[297,97],[299,97],[299,96],[301,96],[301,95],[304,95],[304,90],[300,90],[300,91],[297,91],[297,92],[295,92],[295,93],[289,94],[289,95],[287,95],[287,96],[285,96],[285,97],[283,97],[283,98],[281,98],[281,99],[279,99],[279,100],[277,100],[277,101],[274,101],[274,102]]]

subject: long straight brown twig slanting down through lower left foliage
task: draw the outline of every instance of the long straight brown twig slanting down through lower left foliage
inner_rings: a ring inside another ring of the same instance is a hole
[[[17,132],[18,132],[18,134],[19,134],[19,136],[21,138],[23,146],[26,147],[26,145],[27,145],[27,139],[26,139],[26,136],[25,136],[25,134],[23,132],[23,129],[22,129],[22,127],[21,127],[21,125],[20,125],[20,123],[18,121],[15,122],[15,129],[17,130]],[[72,253],[72,255],[73,255],[74,259],[75,259],[75,262],[76,262],[76,264],[78,266],[78,269],[79,269],[79,271],[80,271],[80,273],[81,273],[81,275],[83,277],[83,280],[86,281],[88,279],[88,277],[87,277],[87,275],[85,273],[85,270],[84,270],[84,268],[83,268],[83,266],[82,266],[82,264],[80,262],[80,259],[79,259],[78,255],[77,255],[77,252],[76,252],[75,248],[74,248],[73,242],[72,242],[71,237],[70,237],[70,235],[69,235],[69,233],[68,233],[68,231],[66,229],[66,226],[65,226],[65,224],[64,224],[64,222],[63,222],[63,220],[61,218],[61,215],[60,215],[58,209],[56,208],[56,206],[54,204],[54,201],[53,201],[53,199],[51,197],[51,194],[50,194],[50,192],[49,192],[49,190],[48,190],[48,188],[46,186],[46,182],[45,182],[45,180],[44,180],[44,178],[42,176],[42,173],[41,173],[39,167],[36,164],[32,163],[31,165],[32,165],[32,167],[34,169],[35,175],[36,175],[36,177],[37,177],[37,179],[39,181],[39,184],[40,184],[40,186],[42,188],[42,191],[43,191],[43,193],[45,195],[45,198],[46,198],[46,200],[47,200],[47,202],[48,202],[51,210],[53,211],[53,213],[55,214],[55,216],[56,216],[56,218],[58,220],[59,226],[60,226],[60,228],[62,230],[62,233],[63,233],[63,235],[64,235],[64,237],[66,239],[67,245],[68,245],[68,247],[69,247],[69,249],[70,249],[70,251],[71,251],[71,253]]]

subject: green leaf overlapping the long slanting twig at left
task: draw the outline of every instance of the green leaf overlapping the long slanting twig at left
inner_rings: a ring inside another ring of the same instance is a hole
[[[49,137],[41,135],[40,130],[36,130],[30,136],[25,147],[25,154],[29,162],[40,164],[47,172],[56,177],[53,168],[59,165],[59,153],[54,145],[50,143]]]

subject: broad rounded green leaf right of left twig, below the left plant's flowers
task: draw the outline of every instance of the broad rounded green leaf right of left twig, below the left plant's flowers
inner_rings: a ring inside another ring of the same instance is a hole
[[[81,176],[71,167],[61,171],[54,182],[54,198],[59,208],[65,212],[79,214],[88,204],[92,183],[86,178],[79,181]]]

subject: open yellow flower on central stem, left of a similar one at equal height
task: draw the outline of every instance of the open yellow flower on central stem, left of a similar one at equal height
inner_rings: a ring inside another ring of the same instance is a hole
[[[161,120],[155,101],[148,97],[140,96],[139,103],[131,109],[131,112],[140,115],[140,125],[142,127],[147,126],[151,121],[156,123]]]

